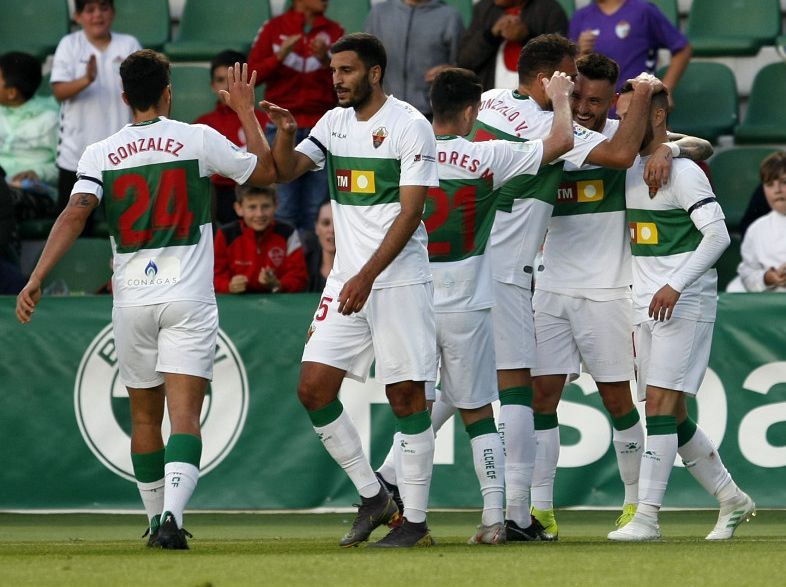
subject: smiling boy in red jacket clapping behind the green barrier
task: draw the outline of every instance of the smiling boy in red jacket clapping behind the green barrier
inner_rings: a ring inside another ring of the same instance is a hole
[[[214,285],[218,293],[278,293],[306,289],[308,273],[297,230],[276,222],[273,187],[236,188],[239,220],[215,239]]]

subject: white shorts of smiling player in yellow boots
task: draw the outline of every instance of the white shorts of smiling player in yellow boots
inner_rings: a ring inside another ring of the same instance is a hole
[[[533,375],[578,377],[581,363],[595,381],[631,381],[633,307],[629,297],[595,301],[535,290],[537,368]]]

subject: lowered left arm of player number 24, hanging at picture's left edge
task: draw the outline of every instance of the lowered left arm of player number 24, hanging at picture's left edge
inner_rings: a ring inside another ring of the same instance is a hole
[[[36,304],[41,299],[41,284],[82,234],[87,218],[96,206],[98,198],[93,194],[74,194],[68,206],[57,217],[27,285],[16,297],[16,317],[22,324],[30,322]]]

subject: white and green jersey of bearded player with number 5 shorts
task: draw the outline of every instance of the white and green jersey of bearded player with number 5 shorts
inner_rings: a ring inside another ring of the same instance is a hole
[[[379,248],[401,211],[399,186],[438,186],[436,140],[425,117],[389,96],[369,120],[353,108],[328,111],[297,150],[327,167],[336,258],[329,282],[343,284]],[[423,223],[374,288],[431,281]]]

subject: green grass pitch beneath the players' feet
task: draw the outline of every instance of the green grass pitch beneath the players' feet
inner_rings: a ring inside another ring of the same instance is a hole
[[[189,513],[191,550],[174,552],[144,546],[141,515],[0,514],[0,586],[786,584],[786,510],[760,511],[723,543],[704,540],[713,511],[666,511],[662,541],[610,543],[616,515],[560,511],[557,543],[468,546],[479,512],[433,512],[437,546],[380,552],[336,545],[349,513]]]

